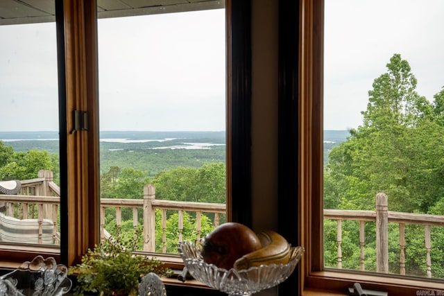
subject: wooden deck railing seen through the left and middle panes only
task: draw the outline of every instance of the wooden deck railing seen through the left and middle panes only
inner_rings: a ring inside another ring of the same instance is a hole
[[[43,221],[49,219],[53,221],[53,243],[60,243],[60,229],[58,229],[58,205],[60,204],[60,189],[53,182],[51,171],[40,171],[39,177],[33,180],[21,181],[22,189],[19,195],[0,194],[0,202],[6,202],[6,215],[23,219],[35,219],[38,225],[38,240],[41,243],[43,236]],[[196,215],[196,238],[200,239],[201,223],[200,218],[203,213],[214,214],[212,224],[214,227],[220,223],[220,215],[226,212],[225,204],[207,202],[180,202],[173,200],[156,200],[155,186],[147,184],[144,186],[143,199],[120,199],[101,198],[100,204],[100,227],[101,239],[110,234],[105,229],[105,210],[115,211],[116,226],[122,225],[122,209],[133,210],[133,229],[137,234],[139,225],[138,209],[143,209],[143,250],[145,252],[155,252],[155,232],[162,232],[162,252],[167,249],[167,211],[177,211],[178,213],[178,239],[182,240],[184,229],[183,216],[185,211]],[[155,229],[155,210],[161,212],[162,229]],[[47,240],[46,240],[47,241]]]

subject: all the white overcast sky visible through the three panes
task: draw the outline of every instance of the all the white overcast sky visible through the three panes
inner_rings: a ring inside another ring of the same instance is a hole
[[[443,0],[325,0],[325,129],[361,124],[394,53],[433,101],[443,13]],[[0,26],[0,40],[0,131],[57,130],[55,24]],[[99,19],[101,130],[224,130],[224,41],[220,9]]]

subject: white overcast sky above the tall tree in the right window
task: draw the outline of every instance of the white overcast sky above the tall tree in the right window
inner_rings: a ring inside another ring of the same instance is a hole
[[[394,53],[410,64],[417,92],[444,86],[443,0],[325,0],[324,128],[347,130]]]

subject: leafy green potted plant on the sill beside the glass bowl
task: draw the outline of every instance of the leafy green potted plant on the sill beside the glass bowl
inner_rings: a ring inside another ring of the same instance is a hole
[[[148,256],[133,254],[119,241],[112,239],[96,245],[82,257],[82,262],[69,268],[69,275],[77,275],[75,295],[100,293],[108,295],[137,295],[139,281],[149,272],[159,276],[171,275],[162,262]]]

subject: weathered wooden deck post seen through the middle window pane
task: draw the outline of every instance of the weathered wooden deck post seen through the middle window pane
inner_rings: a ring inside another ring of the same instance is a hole
[[[155,186],[144,186],[144,252],[155,252]]]

